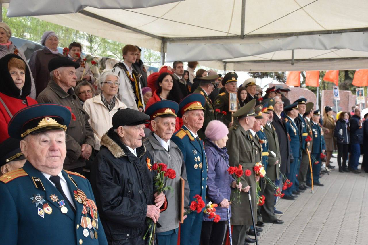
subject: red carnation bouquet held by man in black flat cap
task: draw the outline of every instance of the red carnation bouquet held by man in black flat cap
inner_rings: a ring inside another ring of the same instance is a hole
[[[170,185],[166,185],[166,181],[168,178],[174,179],[176,177],[175,170],[172,168],[167,168],[167,165],[164,163],[154,163],[152,168],[153,171],[157,171],[157,175],[153,178],[155,181],[155,187],[157,194],[160,194],[163,191],[171,190]],[[144,235],[143,239],[146,239],[146,235],[149,232],[149,241],[148,245],[155,244],[155,232],[156,232],[156,224],[153,223],[151,218],[147,218],[148,230]]]

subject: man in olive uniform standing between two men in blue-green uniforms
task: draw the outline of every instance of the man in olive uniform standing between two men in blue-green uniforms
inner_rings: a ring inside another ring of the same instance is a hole
[[[305,104],[305,110],[301,109],[302,106],[299,105],[299,113],[303,113],[303,120],[305,122],[305,129],[307,136],[305,137],[304,141],[302,143],[305,144],[305,149],[302,151],[302,160],[300,163],[300,169],[298,174],[298,182],[299,182],[299,188],[304,187],[305,189],[310,188],[308,185],[305,184],[307,172],[309,168],[309,154],[307,150],[309,150],[309,153],[312,153],[312,142],[313,141],[306,141],[308,135],[312,139],[312,127],[311,127],[311,120],[310,118],[313,116],[313,106],[314,104],[312,102],[308,102]],[[299,114],[299,115],[300,115]]]

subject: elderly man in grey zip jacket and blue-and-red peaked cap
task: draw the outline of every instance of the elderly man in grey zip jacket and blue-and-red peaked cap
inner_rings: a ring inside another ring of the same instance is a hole
[[[157,241],[159,245],[176,245],[180,221],[180,177],[185,181],[184,203],[189,203],[189,185],[187,170],[178,146],[170,141],[174,134],[175,122],[179,105],[171,100],[162,100],[152,104],[146,110],[151,118],[151,132],[145,146],[151,153],[153,163],[165,163],[168,168],[175,170],[176,177],[167,179],[166,185],[172,189],[166,191],[167,209],[160,214],[161,227],[157,228]],[[186,207],[188,208],[188,206]]]

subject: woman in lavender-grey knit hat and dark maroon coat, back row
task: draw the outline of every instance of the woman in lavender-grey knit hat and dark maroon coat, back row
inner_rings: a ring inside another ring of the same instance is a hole
[[[42,50],[36,50],[29,59],[29,67],[36,85],[36,97],[47,87],[50,81],[49,61],[55,57],[63,56],[57,51],[59,38],[52,31],[44,32],[41,44]]]

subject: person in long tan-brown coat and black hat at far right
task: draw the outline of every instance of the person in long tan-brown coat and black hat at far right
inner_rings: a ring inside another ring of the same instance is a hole
[[[325,127],[324,138],[326,142],[326,167],[335,168],[330,165],[332,152],[335,150],[335,140],[333,138],[333,130],[336,127],[335,118],[332,116],[332,107],[325,106],[325,113],[323,113],[323,127]]]

